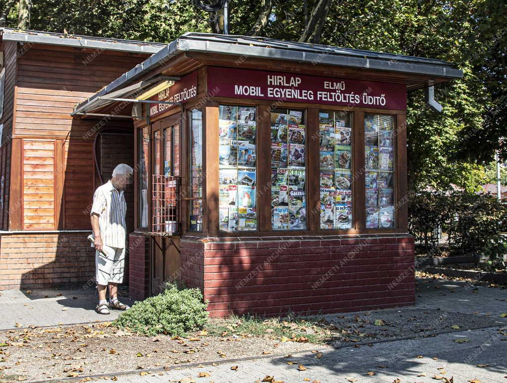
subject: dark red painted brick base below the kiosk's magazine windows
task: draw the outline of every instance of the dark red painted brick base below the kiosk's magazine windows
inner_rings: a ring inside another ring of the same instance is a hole
[[[204,284],[211,316],[330,313],[415,301],[414,243],[407,235],[204,241],[182,241],[182,275],[191,286]]]

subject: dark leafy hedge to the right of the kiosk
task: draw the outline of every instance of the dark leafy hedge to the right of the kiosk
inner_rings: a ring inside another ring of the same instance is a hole
[[[477,254],[507,231],[507,205],[487,194],[429,190],[409,196],[409,232],[429,253],[438,246],[437,228],[447,233],[449,250]]]

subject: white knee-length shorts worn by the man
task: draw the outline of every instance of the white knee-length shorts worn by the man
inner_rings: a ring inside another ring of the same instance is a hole
[[[122,283],[125,267],[125,248],[113,248],[104,246],[106,257],[101,252],[95,251],[95,281],[97,284],[106,286],[108,283]]]

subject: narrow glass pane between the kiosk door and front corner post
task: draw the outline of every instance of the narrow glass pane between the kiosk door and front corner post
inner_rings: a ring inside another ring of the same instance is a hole
[[[202,113],[190,112],[190,230],[202,230]]]

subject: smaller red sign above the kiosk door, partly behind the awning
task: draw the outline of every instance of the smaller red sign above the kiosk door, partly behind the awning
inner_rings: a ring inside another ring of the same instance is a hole
[[[192,72],[187,76],[183,76],[169,88],[161,90],[150,100],[183,103],[195,97],[197,97],[197,72]],[[157,116],[174,107],[175,105],[170,104],[152,103],[150,104],[150,117]]]

